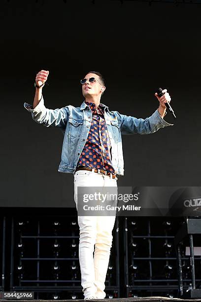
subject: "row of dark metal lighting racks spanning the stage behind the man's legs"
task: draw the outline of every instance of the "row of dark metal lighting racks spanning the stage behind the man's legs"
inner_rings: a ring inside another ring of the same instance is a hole
[[[190,234],[190,241],[181,236],[186,223],[184,218],[116,217],[106,299],[169,301],[199,290],[201,235]],[[75,212],[1,216],[0,242],[0,291],[34,292],[36,300],[83,300]]]

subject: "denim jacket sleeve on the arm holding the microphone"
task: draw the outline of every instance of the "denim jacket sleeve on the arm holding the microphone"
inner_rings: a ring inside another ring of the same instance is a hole
[[[122,134],[150,134],[154,133],[160,128],[166,126],[173,126],[167,123],[156,110],[151,116],[143,119],[134,116],[127,116],[117,112]]]

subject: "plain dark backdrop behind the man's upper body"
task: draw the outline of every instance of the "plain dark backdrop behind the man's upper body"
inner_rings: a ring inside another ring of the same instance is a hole
[[[119,186],[200,186],[201,5],[124,1],[1,1],[0,206],[74,206],[73,175],[59,173],[63,134],[36,124],[35,75],[49,70],[45,106],[83,102],[80,78],[106,80],[101,102],[145,118],[167,88],[176,122],[123,136]]]

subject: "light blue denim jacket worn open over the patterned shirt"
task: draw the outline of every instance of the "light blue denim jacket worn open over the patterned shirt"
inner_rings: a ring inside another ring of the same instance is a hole
[[[167,123],[158,110],[150,117],[142,119],[120,114],[117,111],[109,111],[107,106],[102,105],[111,142],[111,160],[118,175],[124,175],[122,134],[150,134],[160,128],[173,125]],[[64,141],[58,171],[74,173],[91,126],[92,111],[90,107],[83,101],[80,107],[68,105],[61,109],[47,109],[44,106],[43,96],[34,109],[28,103],[24,103],[24,107],[32,113],[35,122],[45,127],[59,127],[63,131]]]

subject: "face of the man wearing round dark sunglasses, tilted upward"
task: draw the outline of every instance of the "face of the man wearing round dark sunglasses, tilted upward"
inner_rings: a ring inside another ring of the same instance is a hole
[[[94,82],[89,81],[90,77],[95,77]],[[82,94],[86,98],[88,96],[98,96],[101,95],[102,90],[101,87],[104,87],[100,85],[100,77],[96,74],[87,74],[84,78],[87,78],[87,81],[82,85]],[[98,79],[98,81],[97,81]]]

